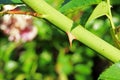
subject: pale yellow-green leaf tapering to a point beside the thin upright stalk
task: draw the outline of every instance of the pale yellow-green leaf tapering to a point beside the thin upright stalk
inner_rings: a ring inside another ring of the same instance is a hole
[[[109,12],[109,6],[108,6],[108,4],[105,1],[102,1],[94,9],[94,11],[92,12],[91,16],[89,17],[87,23],[89,23],[93,19],[96,19],[96,18],[101,17],[103,15],[107,15],[108,12]]]

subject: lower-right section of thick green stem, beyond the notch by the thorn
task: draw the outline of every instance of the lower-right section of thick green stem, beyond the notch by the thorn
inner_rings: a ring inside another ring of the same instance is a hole
[[[94,49],[109,60],[113,62],[120,61],[120,50],[87,31],[82,26],[79,25],[73,29],[72,34],[75,35],[79,41]]]

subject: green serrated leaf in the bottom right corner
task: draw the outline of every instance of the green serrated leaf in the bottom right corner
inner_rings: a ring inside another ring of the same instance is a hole
[[[120,80],[120,62],[113,64],[103,72],[98,80]]]

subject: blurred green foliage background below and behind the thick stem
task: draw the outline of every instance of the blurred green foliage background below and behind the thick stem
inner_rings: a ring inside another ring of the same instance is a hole
[[[117,1],[112,0],[115,26],[120,25]],[[94,6],[89,9],[93,10]],[[82,12],[81,19],[89,11]],[[78,22],[84,25],[82,20]],[[34,24],[38,35],[21,44],[8,41],[8,36],[0,30],[0,80],[96,80],[109,66],[108,60],[76,40],[70,47],[66,33],[46,20],[34,18]],[[114,44],[110,23],[105,16],[91,21],[86,29]]]

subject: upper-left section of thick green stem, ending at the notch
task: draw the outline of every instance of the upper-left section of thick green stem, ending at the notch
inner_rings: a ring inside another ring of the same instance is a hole
[[[28,4],[34,11],[38,14],[43,14],[44,17],[57,25],[60,29],[69,32],[72,26],[73,21],[68,19],[66,16],[52,8],[44,0],[22,0]],[[34,4],[33,4],[34,3]]]

